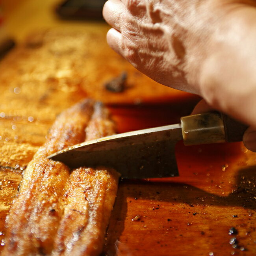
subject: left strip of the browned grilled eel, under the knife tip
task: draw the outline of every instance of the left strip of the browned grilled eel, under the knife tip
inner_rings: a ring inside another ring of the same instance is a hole
[[[17,198],[6,218],[3,256],[49,255],[66,204],[70,171],[46,156],[81,143],[93,113],[94,102],[84,100],[61,113],[45,144],[28,164]]]

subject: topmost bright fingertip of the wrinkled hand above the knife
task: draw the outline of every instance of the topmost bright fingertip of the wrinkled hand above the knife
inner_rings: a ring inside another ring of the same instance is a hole
[[[108,0],[103,7],[103,17],[110,26],[120,31],[121,15],[125,7],[120,0]]]

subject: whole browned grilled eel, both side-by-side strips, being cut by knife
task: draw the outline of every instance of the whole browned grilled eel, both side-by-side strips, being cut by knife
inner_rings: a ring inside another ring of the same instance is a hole
[[[67,109],[54,122],[45,144],[28,164],[6,218],[2,255],[66,255],[71,250],[76,254],[69,255],[100,253],[118,174],[106,168],[79,168],[70,174],[63,163],[46,158],[84,141],[85,127],[89,138],[113,131],[106,110],[92,100]],[[84,239],[87,242],[78,248]]]

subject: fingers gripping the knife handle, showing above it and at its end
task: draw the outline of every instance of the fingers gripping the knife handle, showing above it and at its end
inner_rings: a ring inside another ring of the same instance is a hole
[[[211,108],[211,106],[209,106],[205,100],[201,100],[198,102],[197,106],[195,106],[191,115],[200,114],[211,110],[213,110],[213,108]],[[254,127],[250,126],[245,131],[243,135],[243,144],[249,150],[256,152],[256,129]]]

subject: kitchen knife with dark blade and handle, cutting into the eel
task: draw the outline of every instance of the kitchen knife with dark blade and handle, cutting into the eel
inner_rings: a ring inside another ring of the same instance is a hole
[[[113,167],[122,178],[178,176],[175,145],[242,141],[248,126],[219,113],[189,115],[180,124],[171,124],[102,137],[66,148],[48,158],[71,168]]]

